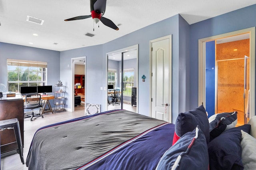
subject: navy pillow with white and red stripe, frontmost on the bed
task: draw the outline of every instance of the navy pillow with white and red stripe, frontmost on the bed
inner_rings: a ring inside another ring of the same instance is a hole
[[[199,126],[198,126],[199,127]],[[176,170],[208,170],[209,158],[206,138],[202,130],[196,128],[192,132],[184,134],[172,147],[162,156],[156,170],[170,170],[179,155],[182,155],[177,163]],[[194,140],[194,141],[193,141]]]

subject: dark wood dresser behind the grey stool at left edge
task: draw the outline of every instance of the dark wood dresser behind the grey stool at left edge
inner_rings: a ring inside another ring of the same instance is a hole
[[[22,139],[22,146],[24,147],[24,101],[20,94],[16,94],[15,97],[0,97],[0,121],[6,119],[17,118],[20,123],[20,134]],[[1,141],[1,154],[16,150],[17,143],[14,130],[6,129],[0,131],[0,141]],[[14,142],[12,144],[8,144]],[[6,145],[4,145],[6,144]],[[4,146],[2,146],[4,145]]]

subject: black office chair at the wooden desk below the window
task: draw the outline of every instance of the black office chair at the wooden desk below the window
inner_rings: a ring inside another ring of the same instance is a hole
[[[40,114],[41,112],[41,108],[42,108],[42,104],[41,104],[41,95],[38,93],[30,93],[27,94],[25,97],[25,106],[24,109],[31,109],[32,113],[31,115],[27,115],[24,118],[28,118],[31,117],[30,121],[33,121],[33,117],[44,117],[43,115]],[[34,115],[34,109],[39,109],[39,115]]]

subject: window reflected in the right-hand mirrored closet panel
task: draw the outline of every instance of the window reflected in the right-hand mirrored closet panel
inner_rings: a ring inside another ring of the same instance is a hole
[[[124,69],[123,83],[123,95],[132,96],[132,87],[134,85],[134,68]]]

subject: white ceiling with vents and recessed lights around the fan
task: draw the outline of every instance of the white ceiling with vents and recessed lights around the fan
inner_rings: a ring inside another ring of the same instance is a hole
[[[0,42],[64,51],[103,44],[176,14],[194,24],[252,4],[256,1],[107,0],[104,17],[116,25],[122,24],[116,31],[102,23],[98,28],[92,18],[64,21],[90,15],[90,0],[0,0]],[[44,23],[28,22],[27,16]],[[95,36],[85,36],[87,32]]]

